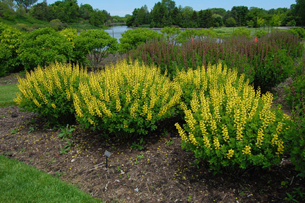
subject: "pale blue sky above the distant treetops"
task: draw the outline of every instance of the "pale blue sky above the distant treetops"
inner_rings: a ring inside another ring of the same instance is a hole
[[[46,0],[47,3],[54,3],[54,0]],[[58,1],[58,0],[57,0]],[[78,0],[80,3],[90,4],[93,8],[100,10],[107,10],[110,15],[125,16],[126,14],[132,14],[134,8],[141,8],[141,6],[147,5],[148,10],[151,10],[155,3],[162,0],[146,1],[146,0]],[[41,3],[42,0],[37,1]],[[290,5],[295,3],[295,0],[176,0],[176,6],[191,6],[193,10],[204,10],[207,8],[225,8],[225,10],[231,10],[233,6],[247,6],[248,8],[254,6],[258,8],[264,8],[269,10],[271,8],[290,8]]]

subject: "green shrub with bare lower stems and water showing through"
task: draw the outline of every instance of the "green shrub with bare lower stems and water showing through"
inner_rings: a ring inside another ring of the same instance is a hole
[[[84,30],[73,39],[74,53],[80,62],[97,67],[108,54],[117,51],[118,42],[104,30]]]

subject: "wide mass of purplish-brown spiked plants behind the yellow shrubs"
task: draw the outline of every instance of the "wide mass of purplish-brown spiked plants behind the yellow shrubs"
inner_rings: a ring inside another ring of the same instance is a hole
[[[177,37],[178,38],[178,37]],[[272,33],[258,42],[246,37],[216,39],[189,37],[181,44],[153,39],[128,53],[128,58],[155,64],[173,78],[177,70],[196,69],[207,64],[226,64],[244,73],[250,83],[263,92],[283,82],[293,70],[293,60],[302,55],[303,46],[296,35]]]

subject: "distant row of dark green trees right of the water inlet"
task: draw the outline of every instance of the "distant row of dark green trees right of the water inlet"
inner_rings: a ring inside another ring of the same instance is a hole
[[[176,6],[173,0],[155,3],[149,12],[147,6],[135,8],[126,21],[128,26],[181,28],[211,28],[219,26],[304,26],[305,0],[297,0],[290,8],[263,8],[234,6],[231,10],[209,8],[193,10],[190,6]]]

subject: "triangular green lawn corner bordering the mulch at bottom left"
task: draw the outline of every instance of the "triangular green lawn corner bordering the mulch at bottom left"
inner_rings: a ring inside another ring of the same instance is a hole
[[[0,202],[101,202],[76,186],[0,155]]]

